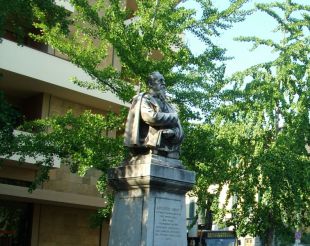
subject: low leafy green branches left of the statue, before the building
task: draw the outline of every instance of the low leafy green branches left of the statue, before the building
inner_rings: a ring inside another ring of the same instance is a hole
[[[111,138],[108,134],[122,128],[123,122],[124,114],[102,116],[86,111],[74,116],[69,111],[65,116],[25,123],[21,129],[33,134],[19,134],[15,138],[18,143],[15,153],[23,157],[44,157],[37,163],[40,173],[31,189],[48,179],[55,156],[82,176],[89,168],[105,174],[108,168],[121,163],[125,154],[123,139]]]

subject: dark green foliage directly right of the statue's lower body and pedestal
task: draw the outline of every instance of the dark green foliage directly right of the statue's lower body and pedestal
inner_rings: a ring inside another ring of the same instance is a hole
[[[230,178],[232,156],[227,152],[229,142],[211,125],[185,125],[184,130],[182,162],[196,172],[196,184],[190,195],[198,198],[197,214],[205,215],[206,224],[212,224],[207,221],[207,214],[217,216],[219,196]]]

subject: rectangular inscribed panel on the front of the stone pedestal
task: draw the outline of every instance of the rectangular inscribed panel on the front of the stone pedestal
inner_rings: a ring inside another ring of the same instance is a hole
[[[182,245],[181,209],[180,200],[155,199],[154,246]]]

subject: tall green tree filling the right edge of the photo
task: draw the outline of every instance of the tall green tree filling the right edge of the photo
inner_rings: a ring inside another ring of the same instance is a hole
[[[283,39],[238,38],[269,46],[278,57],[236,73],[221,95],[215,122],[231,157],[227,197],[237,202],[221,212],[230,219],[219,218],[271,245],[274,234],[310,222],[310,8],[287,0],[257,9],[277,21]]]

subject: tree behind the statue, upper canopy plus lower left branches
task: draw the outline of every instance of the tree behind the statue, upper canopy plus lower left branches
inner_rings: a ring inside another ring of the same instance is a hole
[[[28,17],[29,14],[27,23],[34,23],[40,31],[40,34],[30,32],[30,37],[53,46],[91,76],[93,81],[75,81],[81,86],[110,90],[121,99],[129,100],[134,94],[134,85],[140,83],[143,87],[147,75],[159,70],[166,78],[168,89],[175,95],[172,100],[178,104],[184,121],[199,118],[199,110],[210,112],[223,82],[225,68],[222,61],[226,59],[224,50],[213,44],[211,37],[219,35],[219,30],[229,28],[233,22],[244,19],[247,12],[240,8],[246,0],[231,1],[224,11],[218,11],[212,1],[197,0],[195,2],[202,9],[200,17],[195,15],[194,9],[182,6],[186,1],[136,1],[136,11],[126,8],[120,1],[92,2],[71,0],[74,13],[55,7],[52,0],[6,2],[8,7],[3,9],[1,16],[4,16],[3,22],[8,22],[12,20],[12,13],[17,15],[14,10],[25,11],[22,16]],[[24,5],[27,6],[20,7]],[[133,21],[126,24],[130,17]],[[185,31],[192,32],[205,44],[201,55],[194,55],[183,41],[181,34]],[[111,47],[121,59],[121,71],[101,64]],[[33,130],[35,134],[16,138],[17,153],[45,156],[38,162],[41,172],[36,183],[48,179],[53,155],[70,160],[67,164],[73,170],[84,172],[93,163],[96,168],[106,171],[105,164],[100,166],[102,156],[95,154],[98,151],[96,146],[101,146],[98,138],[94,142],[94,139],[75,134],[90,131],[89,136],[93,136],[92,126],[96,126],[97,132],[102,132],[106,126],[98,123],[98,116],[86,114],[80,117],[86,117],[87,123],[83,124],[79,117],[69,114],[27,124],[23,129]],[[101,120],[106,124],[106,119]],[[49,125],[51,127],[47,127]],[[118,140],[108,141],[105,136],[100,139],[120,153]],[[116,162],[119,163],[119,159],[112,158],[109,165]],[[105,187],[105,179],[101,181]]]

